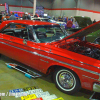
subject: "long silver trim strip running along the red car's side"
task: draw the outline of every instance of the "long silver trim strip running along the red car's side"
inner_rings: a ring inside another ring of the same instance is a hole
[[[74,67],[74,68],[77,68],[77,69],[80,69],[80,70],[83,70],[83,71],[89,72],[89,73],[91,73],[91,74],[100,75],[98,72],[90,71],[90,70],[85,69],[85,68],[81,68],[81,67],[78,67],[78,66],[75,66],[75,65],[72,65],[72,64],[66,63],[66,62],[62,62],[62,61],[60,61],[60,60],[57,60],[57,59],[54,59],[54,58],[51,58],[51,57],[48,57],[48,56],[45,56],[45,55],[39,54],[39,53],[37,53],[37,52],[31,52],[31,51],[28,51],[28,50],[25,50],[25,49],[22,49],[22,48],[18,48],[18,47],[15,47],[15,46],[12,46],[12,45],[6,44],[6,43],[4,43],[4,42],[0,42],[0,43],[5,44],[5,45],[8,45],[8,46],[11,46],[11,47],[14,47],[14,48],[17,48],[17,49],[20,49],[20,50],[23,50],[23,51],[26,51],[26,52],[29,52],[29,53],[34,54],[34,55],[38,55],[38,56],[43,57],[43,58],[47,58],[47,59],[50,59],[50,60],[56,61],[56,62],[58,62],[58,63],[62,63],[62,64],[65,64],[65,65],[68,65],[68,66],[71,66],[71,67]]]

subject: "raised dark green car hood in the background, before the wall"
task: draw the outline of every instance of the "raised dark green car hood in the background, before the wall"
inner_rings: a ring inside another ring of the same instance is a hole
[[[85,16],[74,16],[75,20],[77,21],[79,27],[84,28],[92,24],[92,20],[90,17]]]

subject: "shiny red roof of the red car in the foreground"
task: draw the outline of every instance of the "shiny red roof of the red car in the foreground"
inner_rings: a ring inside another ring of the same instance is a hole
[[[2,24],[9,24],[9,23],[20,23],[20,24],[27,24],[27,25],[58,25],[55,23],[41,22],[35,20],[7,20],[2,22]]]

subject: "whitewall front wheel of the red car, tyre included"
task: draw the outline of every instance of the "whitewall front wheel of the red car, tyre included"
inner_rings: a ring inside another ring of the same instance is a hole
[[[54,73],[56,87],[67,94],[74,94],[81,88],[78,76],[68,69],[58,69]]]

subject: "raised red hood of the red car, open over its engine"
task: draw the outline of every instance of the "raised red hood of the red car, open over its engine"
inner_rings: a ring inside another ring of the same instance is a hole
[[[94,24],[91,24],[71,35],[68,35],[67,37],[63,38],[62,40],[58,41],[58,42],[61,42],[63,40],[66,40],[66,39],[70,39],[70,38],[83,38],[84,36],[88,35],[88,34],[91,34],[93,32],[96,32],[97,30],[100,29],[100,21],[94,23]]]

